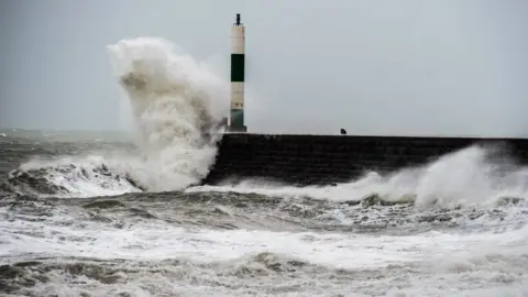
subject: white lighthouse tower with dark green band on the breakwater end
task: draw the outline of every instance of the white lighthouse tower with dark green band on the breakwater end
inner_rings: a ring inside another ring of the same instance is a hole
[[[231,108],[229,132],[248,132],[244,125],[245,32],[240,13],[231,28]]]

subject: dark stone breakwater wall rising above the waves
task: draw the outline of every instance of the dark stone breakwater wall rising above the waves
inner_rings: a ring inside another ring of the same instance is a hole
[[[201,184],[262,178],[301,186],[331,185],[369,170],[394,172],[471,145],[490,144],[501,145],[498,157],[528,163],[528,139],[228,133]]]

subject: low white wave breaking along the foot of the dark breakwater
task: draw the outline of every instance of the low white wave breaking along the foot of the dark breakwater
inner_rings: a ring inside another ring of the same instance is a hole
[[[252,193],[283,198],[310,197],[350,205],[411,202],[415,208],[496,207],[525,201],[528,168],[515,165],[504,147],[472,146],[420,167],[364,177],[329,187],[292,187],[262,180],[201,186],[187,191]]]

